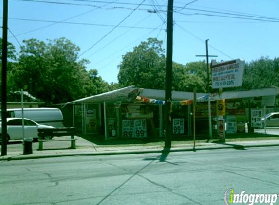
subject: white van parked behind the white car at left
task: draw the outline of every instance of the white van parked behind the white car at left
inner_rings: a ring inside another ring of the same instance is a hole
[[[64,127],[63,115],[58,108],[23,108],[23,115],[39,124]],[[7,118],[22,118],[21,108],[7,109]]]

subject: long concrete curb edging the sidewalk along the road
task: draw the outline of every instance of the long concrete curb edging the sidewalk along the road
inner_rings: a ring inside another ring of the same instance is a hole
[[[214,146],[197,146],[195,149],[192,148],[171,148],[169,150],[153,148],[153,149],[139,149],[139,150],[113,150],[113,151],[94,151],[94,152],[73,152],[73,153],[54,153],[54,154],[30,154],[30,155],[17,155],[17,156],[2,156],[0,161],[13,161],[13,160],[26,160],[26,159],[39,159],[39,158],[50,158],[50,157],[66,157],[66,156],[100,156],[100,155],[120,155],[120,154],[147,154],[147,153],[168,153],[168,152],[189,152],[189,151],[200,151],[200,150],[218,150],[218,149],[239,149],[244,150],[245,148],[253,147],[273,147],[279,146],[279,143],[269,144],[220,144]]]

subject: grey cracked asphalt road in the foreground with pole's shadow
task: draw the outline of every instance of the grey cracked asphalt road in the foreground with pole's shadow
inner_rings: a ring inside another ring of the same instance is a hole
[[[0,205],[224,205],[230,188],[278,194],[279,147],[0,162]]]

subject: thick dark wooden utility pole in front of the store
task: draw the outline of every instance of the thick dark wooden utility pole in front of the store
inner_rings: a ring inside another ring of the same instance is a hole
[[[165,148],[171,148],[171,87],[172,87],[172,43],[173,42],[173,0],[167,5],[167,56],[165,88]]]

